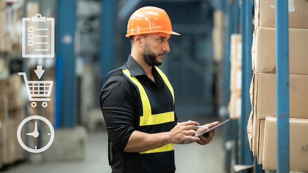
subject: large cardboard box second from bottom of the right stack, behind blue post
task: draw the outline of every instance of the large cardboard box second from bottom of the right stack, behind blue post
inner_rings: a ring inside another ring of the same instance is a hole
[[[254,75],[253,113],[259,119],[277,116],[276,74]],[[291,118],[308,118],[308,75],[289,75]]]

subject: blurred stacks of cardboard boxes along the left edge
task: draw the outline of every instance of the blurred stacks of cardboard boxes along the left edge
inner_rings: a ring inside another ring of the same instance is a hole
[[[21,20],[24,0],[0,0],[0,54],[21,51]],[[17,141],[17,127],[25,118],[22,78],[9,75],[5,58],[0,57],[0,167],[25,158]]]

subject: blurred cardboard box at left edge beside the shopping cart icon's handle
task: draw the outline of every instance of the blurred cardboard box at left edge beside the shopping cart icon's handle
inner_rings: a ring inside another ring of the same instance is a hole
[[[0,80],[0,94],[10,95],[19,92],[22,84],[22,76],[13,74],[8,79]]]

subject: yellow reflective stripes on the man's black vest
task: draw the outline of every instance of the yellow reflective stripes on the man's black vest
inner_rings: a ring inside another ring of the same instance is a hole
[[[161,76],[162,80],[165,82],[167,87],[169,88],[172,97],[173,97],[173,104],[174,104],[174,90],[167,79],[166,75],[157,67],[155,67],[159,75]],[[151,104],[150,100],[148,98],[148,95],[144,89],[144,87],[141,85],[141,83],[138,81],[138,79],[134,76],[130,76],[130,72],[128,69],[123,69],[122,70],[123,74],[127,76],[131,82],[133,82],[139,90],[140,93],[140,98],[142,102],[142,110],[143,110],[143,115],[140,116],[140,121],[139,121],[139,126],[146,126],[146,125],[155,125],[155,124],[162,124],[166,122],[172,122],[174,121],[174,111],[171,112],[166,112],[166,113],[160,113],[160,114],[155,114],[152,115],[152,109],[151,109]],[[150,149],[145,152],[141,152],[140,154],[144,153],[155,153],[155,152],[165,152],[165,151],[171,151],[174,149],[174,144],[166,144],[154,149]]]

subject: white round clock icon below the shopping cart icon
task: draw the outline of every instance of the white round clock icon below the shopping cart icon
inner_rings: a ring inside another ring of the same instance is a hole
[[[27,136],[32,136],[34,138],[37,138],[38,136],[40,135],[47,135],[49,136],[49,141],[48,143],[41,147],[41,148],[37,148],[37,146],[35,146],[34,148],[30,148],[28,147],[22,140],[21,138],[21,131],[22,131],[22,128],[23,126],[30,120],[35,120],[35,125],[34,125],[34,129],[33,131],[29,132],[29,133],[26,133]],[[38,130],[37,130],[37,120],[41,120],[41,121],[44,121],[48,127],[49,127],[49,130],[50,130],[50,133],[39,133]],[[17,140],[19,142],[19,144],[27,151],[29,152],[32,152],[32,153],[39,153],[39,152],[43,152],[45,151],[46,149],[48,149],[51,144],[54,142],[54,139],[55,139],[55,130],[54,130],[54,127],[52,126],[51,122],[46,119],[45,117],[43,116],[40,116],[40,115],[32,115],[32,116],[29,116],[27,118],[25,118],[23,121],[21,121],[21,123],[19,124],[18,126],[18,129],[17,129]]]

